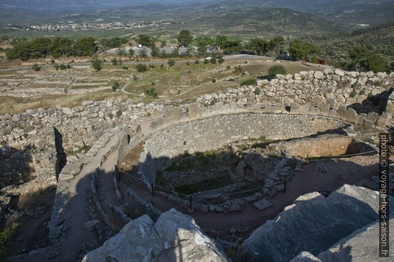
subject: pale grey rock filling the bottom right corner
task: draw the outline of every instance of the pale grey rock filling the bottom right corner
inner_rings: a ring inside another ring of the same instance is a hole
[[[390,215],[390,223],[394,223],[394,213]],[[394,236],[389,241],[393,243]],[[389,249],[394,253],[394,246]],[[379,220],[356,230],[350,236],[341,239],[330,249],[313,256],[309,252],[302,252],[290,262],[389,262],[393,258],[379,258]]]

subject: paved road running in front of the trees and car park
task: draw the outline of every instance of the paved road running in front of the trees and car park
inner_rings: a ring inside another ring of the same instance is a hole
[[[273,60],[274,57],[269,57],[269,56],[262,56],[262,55],[250,55],[250,54],[236,54],[236,55],[228,55],[224,56],[225,60],[253,60],[253,59],[268,59],[268,60]],[[203,59],[199,59],[200,61],[203,61]],[[186,62],[194,62],[195,59],[192,60],[180,60],[177,61],[177,63],[186,63]],[[124,65],[135,65],[135,64],[163,64],[167,63],[167,60],[161,60],[161,61],[147,61],[147,62],[122,62]],[[104,65],[111,65],[111,62],[105,62],[103,63]],[[69,65],[71,66],[89,66],[91,65],[90,63],[70,63]],[[39,65],[42,68],[48,68],[48,67],[53,67],[52,64],[44,64],[44,65]],[[10,72],[10,71],[22,71],[22,70],[30,70],[31,66],[25,66],[25,67],[14,67],[14,68],[5,68],[5,69],[0,69],[0,72]]]

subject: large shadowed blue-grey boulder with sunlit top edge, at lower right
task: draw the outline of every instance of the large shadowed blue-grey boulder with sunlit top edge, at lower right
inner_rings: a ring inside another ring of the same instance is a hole
[[[327,198],[300,196],[244,241],[237,258],[250,262],[290,261],[302,251],[313,255],[378,218],[379,194],[344,185]]]

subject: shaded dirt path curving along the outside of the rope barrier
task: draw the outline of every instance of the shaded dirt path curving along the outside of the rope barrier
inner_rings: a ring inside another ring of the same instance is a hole
[[[136,158],[134,158],[135,160]],[[171,208],[191,215],[197,224],[213,237],[231,240],[231,228],[239,229],[239,237],[246,238],[265,221],[273,219],[285,207],[293,204],[299,196],[310,192],[330,192],[343,184],[355,184],[360,180],[369,179],[378,174],[378,155],[358,156],[351,158],[324,159],[303,164],[303,171],[298,172],[288,183],[286,194],[278,192],[270,201],[273,205],[266,210],[257,210],[252,204],[246,204],[240,212],[202,213],[195,210],[192,214],[181,209],[175,203],[160,196],[152,196],[141,187],[131,186],[132,190],[144,199],[150,200],[161,211]],[[135,164],[128,162],[127,164]],[[322,167],[326,169],[321,170]],[[135,175],[135,170],[131,170]],[[130,185],[129,185],[130,186]],[[122,190],[127,189],[123,185]],[[213,230],[213,231],[212,231]],[[212,235],[212,232],[213,235]]]

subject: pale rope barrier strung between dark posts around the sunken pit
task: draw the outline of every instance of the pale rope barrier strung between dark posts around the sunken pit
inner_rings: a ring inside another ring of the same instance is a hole
[[[379,150],[373,150],[373,151],[369,151],[369,152],[363,152],[363,153],[351,154],[351,155],[342,155],[342,156],[312,156],[312,157],[351,157],[351,156],[369,154],[369,153],[378,152],[378,151],[379,151]],[[311,156],[308,156],[308,157],[311,157]],[[259,190],[259,189],[264,189],[264,188],[268,188],[268,187],[271,187],[271,186],[275,186],[275,185],[278,185],[278,184],[281,184],[281,183],[285,182],[290,176],[292,176],[292,175],[297,171],[297,169],[301,166],[301,164],[302,164],[302,163],[299,163],[299,164],[296,166],[296,168],[293,170],[293,172],[291,172],[291,174],[289,174],[286,178],[284,178],[283,180],[280,180],[280,181],[278,181],[278,182],[276,182],[276,183],[270,184],[270,185],[264,185],[264,186],[262,186],[262,187],[258,187],[258,188],[254,188],[254,189],[248,189],[248,190],[244,190],[244,191],[240,191],[240,192],[228,193],[228,194],[218,194],[218,195],[208,195],[208,196],[193,196],[193,197],[194,197],[194,198],[214,198],[214,197],[217,198],[217,197],[224,197],[224,196],[230,196],[230,195],[236,195],[236,194],[247,193],[247,192],[256,191],[256,190]],[[125,173],[126,175],[128,175],[128,176],[130,176],[130,177],[132,177],[132,178],[134,178],[134,179],[137,179],[137,180],[139,180],[139,181],[141,181],[141,182],[143,182],[143,183],[145,183],[145,184],[149,184],[148,181],[143,180],[143,179],[140,179],[140,178],[138,178],[138,177],[135,177],[135,176],[133,176],[133,175],[131,175],[131,174],[129,174],[129,173],[123,171],[123,170],[119,170],[119,171],[122,172],[122,173]],[[185,195],[185,194],[182,194],[182,193],[178,193],[178,192],[176,192],[176,191],[173,191],[173,190],[170,190],[170,189],[167,189],[167,188],[164,188],[164,187],[155,185],[155,184],[153,184],[153,186],[154,186],[154,187],[157,187],[157,188],[160,188],[160,189],[162,189],[162,190],[166,190],[166,191],[168,191],[168,192],[177,194],[177,195],[179,195],[179,196],[184,196],[184,197],[191,197],[191,196],[192,196],[192,195]]]

